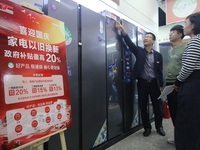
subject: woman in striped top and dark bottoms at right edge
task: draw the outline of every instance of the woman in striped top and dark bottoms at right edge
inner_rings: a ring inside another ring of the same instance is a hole
[[[175,144],[177,150],[200,150],[200,12],[186,17],[184,34],[191,40],[174,83],[179,91]]]

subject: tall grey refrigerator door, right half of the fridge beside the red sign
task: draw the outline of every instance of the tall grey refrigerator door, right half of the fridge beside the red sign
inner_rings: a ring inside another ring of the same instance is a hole
[[[82,149],[107,140],[105,18],[81,6]]]

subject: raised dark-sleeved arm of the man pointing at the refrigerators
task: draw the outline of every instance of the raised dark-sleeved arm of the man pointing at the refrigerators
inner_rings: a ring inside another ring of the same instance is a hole
[[[118,21],[116,21],[116,28],[121,31],[122,37],[124,41],[126,42],[127,46],[132,51],[132,53],[137,57],[137,51],[138,51],[137,46],[131,41],[130,37],[126,33],[126,30]]]

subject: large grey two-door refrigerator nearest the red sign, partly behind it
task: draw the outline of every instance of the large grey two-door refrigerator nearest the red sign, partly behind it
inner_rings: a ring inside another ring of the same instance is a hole
[[[105,17],[72,0],[48,0],[45,14],[65,22],[73,125],[69,150],[92,149],[107,141]],[[48,149],[61,149],[57,135]]]

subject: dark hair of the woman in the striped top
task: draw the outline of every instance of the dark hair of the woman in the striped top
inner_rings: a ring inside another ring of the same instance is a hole
[[[192,29],[194,31],[194,34],[200,34],[200,12],[191,14],[187,16],[186,19],[189,19],[190,22],[194,24],[194,28]]]

